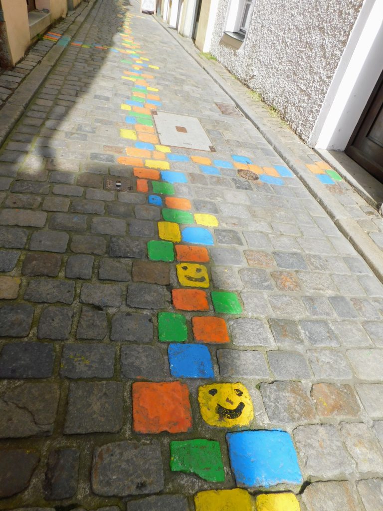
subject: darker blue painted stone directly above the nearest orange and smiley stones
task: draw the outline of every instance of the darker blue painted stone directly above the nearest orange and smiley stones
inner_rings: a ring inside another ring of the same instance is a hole
[[[174,378],[214,378],[213,363],[207,346],[169,344],[167,348],[170,374]]]

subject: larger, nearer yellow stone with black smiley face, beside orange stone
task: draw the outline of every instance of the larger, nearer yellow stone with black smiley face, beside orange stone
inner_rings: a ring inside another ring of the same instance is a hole
[[[211,383],[198,389],[202,419],[210,426],[248,426],[254,418],[253,403],[242,383]]]

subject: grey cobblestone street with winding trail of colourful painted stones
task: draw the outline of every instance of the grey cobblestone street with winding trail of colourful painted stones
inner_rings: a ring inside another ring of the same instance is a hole
[[[135,1],[64,43],[0,150],[0,509],[383,509],[381,282]]]

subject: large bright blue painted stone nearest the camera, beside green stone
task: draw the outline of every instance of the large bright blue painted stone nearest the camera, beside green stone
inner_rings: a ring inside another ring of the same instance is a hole
[[[227,433],[231,468],[238,486],[270,487],[301,484],[297,453],[286,431],[258,430]]]

